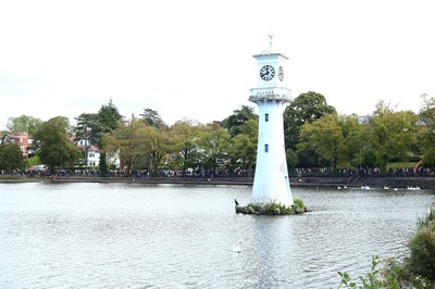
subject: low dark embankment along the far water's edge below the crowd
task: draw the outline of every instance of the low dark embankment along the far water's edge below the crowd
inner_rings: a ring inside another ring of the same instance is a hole
[[[253,184],[253,177],[135,177],[135,176],[0,176],[0,183],[125,183],[125,184],[185,184],[185,185],[244,185]],[[290,178],[290,186],[361,187],[435,189],[435,177],[300,177]]]

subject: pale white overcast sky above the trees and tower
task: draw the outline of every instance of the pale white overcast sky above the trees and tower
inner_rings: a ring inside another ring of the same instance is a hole
[[[254,106],[252,55],[271,30],[293,97],[322,93],[343,114],[381,99],[418,112],[435,97],[434,12],[431,0],[0,1],[0,129],[110,99],[127,117],[222,121]]]

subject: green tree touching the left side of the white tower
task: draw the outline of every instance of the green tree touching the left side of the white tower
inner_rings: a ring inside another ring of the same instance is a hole
[[[231,139],[228,148],[232,162],[248,169],[250,176],[257,156],[258,121],[250,118],[240,127],[240,134]]]

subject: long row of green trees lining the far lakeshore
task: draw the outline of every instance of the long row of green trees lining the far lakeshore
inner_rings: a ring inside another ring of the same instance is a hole
[[[380,101],[362,122],[353,114],[337,114],[321,93],[301,93],[284,112],[287,164],[290,169],[384,168],[394,161],[420,161],[421,165],[433,166],[435,101],[425,96],[422,102],[420,113],[415,114],[396,111],[389,103]],[[33,125],[27,125],[26,120]],[[108,169],[104,167],[107,155],[119,155],[127,171],[149,169],[153,174],[160,168],[182,172],[194,168],[211,174],[221,171],[250,173],[256,165],[258,115],[250,106],[235,110],[222,122],[201,124],[183,120],[169,126],[151,109],[144,109],[138,117],[133,115],[127,120],[110,101],[97,113],[80,114],[76,121],[76,126],[72,127],[61,116],[48,122],[20,117],[20,122],[11,118],[9,127],[32,127],[38,156],[51,168],[74,163],[72,159],[76,154],[66,146],[71,136],[99,147],[102,174]],[[54,158],[57,150],[47,149],[54,148],[50,147],[53,143],[63,148],[65,155],[58,151]],[[45,148],[50,153],[46,153]],[[53,162],[50,158],[63,161]]]

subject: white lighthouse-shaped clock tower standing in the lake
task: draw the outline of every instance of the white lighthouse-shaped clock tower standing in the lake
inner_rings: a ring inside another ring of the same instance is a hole
[[[290,90],[284,86],[284,64],[287,56],[270,49],[257,59],[257,88],[250,89],[249,101],[259,106],[259,138],[257,166],[251,203],[294,204],[288,180],[284,142],[285,108],[291,101]]]

